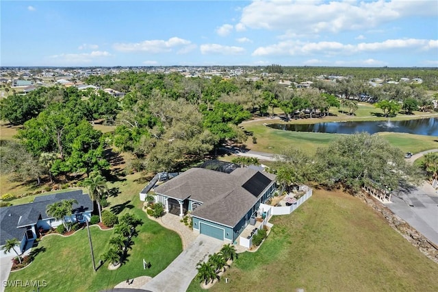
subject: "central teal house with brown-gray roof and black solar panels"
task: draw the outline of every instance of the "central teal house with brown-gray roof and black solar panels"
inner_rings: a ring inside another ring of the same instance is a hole
[[[257,169],[227,173],[195,167],[154,191],[167,212],[183,217],[190,211],[194,232],[234,242],[275,188],[275,175]]]

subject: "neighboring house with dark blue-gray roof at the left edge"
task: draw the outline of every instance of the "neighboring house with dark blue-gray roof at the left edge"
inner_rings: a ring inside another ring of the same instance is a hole
[[[27,241],[38,237],[38,230],[49,230],[62,224],[62,221],[49,217],[46,209],[50,204],[64,199],[77,201],[77,204],[73,204],[73,214],[65,218],[67,222],[90,221],[93,203],[82,191],[42,195],[35,197],[32,203],[0,208],[0,245],[4,245],[8,239],[18,239],[24,252]]]

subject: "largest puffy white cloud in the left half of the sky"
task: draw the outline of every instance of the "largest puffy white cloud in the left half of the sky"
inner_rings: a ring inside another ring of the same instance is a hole
[[[190,40],[183,38],[169,38],[168,40],[144,40],[142,42],[116,43],[113,45],[117,51],[133,52],[145,51],[148,53],[165,53],[172,51],[175,47],[191,45]]]

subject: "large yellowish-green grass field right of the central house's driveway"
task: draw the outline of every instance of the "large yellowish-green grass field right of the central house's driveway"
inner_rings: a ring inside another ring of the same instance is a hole
[[[259,250],[210,291],[438,291],[438,265],[356,197],[318,190],[270,222]],[[194,281],[188,291],[203,290]]]

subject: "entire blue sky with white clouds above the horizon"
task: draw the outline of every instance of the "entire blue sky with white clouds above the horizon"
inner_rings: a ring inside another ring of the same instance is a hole
[[[2,66],[438,66],[438,1],[4,1]]]

